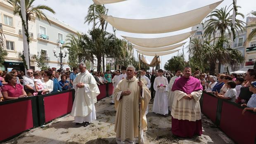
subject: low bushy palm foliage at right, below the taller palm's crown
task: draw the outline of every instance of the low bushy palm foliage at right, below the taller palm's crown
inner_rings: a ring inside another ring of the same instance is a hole
[[[229,44],[228,38],[217,38],[213,44],[207,40],[200,42],[197,38],[192,39],[190,45],[191,59],[196,61],[199,66],[209,65],[211,75],[215,73],[217,60],[220,64],[230,64],[232,68],[244,62],[244,57],[238,50],[232,48],[224,49],[223,44]]]

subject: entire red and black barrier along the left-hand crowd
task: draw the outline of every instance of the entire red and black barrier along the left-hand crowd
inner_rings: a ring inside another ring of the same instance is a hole
[[[100,85],[99,89],[98,100],[113,93],[112,83]],[[70,113],[74,98],[75,90],[70,89],[0,102],[0,143]]]

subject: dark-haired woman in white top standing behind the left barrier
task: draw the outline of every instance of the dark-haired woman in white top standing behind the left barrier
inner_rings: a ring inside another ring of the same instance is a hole
[[[52,71],[45,71],[43,75],[43,87],[44,90],[42,91],[44,94],[50,93],[53,90],[53,81],[50,80],[50,77],[52,76]]]

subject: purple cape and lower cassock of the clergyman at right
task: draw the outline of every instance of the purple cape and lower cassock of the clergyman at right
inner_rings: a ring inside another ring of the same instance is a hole
[[[186,94],[203,90],[200,81],[197,78],[190,76],[190,78],[180,77],[173,83],[172,91],[180,90]],[[192,99],[194,100],[194,99]],[[190,100],[188,100],[189,102]],[[189,120],[178,120],[172,117],[172,133],[179,137],[193,137],[194,135],[202,134],[202,121],[189,121]]]

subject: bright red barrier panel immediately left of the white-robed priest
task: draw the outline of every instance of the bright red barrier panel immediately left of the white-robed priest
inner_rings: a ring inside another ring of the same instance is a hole
[[[45,123],[70,113],[73,106],[72,92],[44,97]]]

